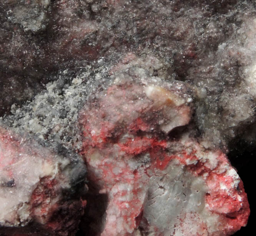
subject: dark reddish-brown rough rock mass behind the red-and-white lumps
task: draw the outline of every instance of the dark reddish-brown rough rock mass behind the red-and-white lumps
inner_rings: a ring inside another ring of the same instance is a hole
[[[132,51],[156,56],[161,78],[191,85],[205,147],[225,148],[242,130],[251,130],[253,1],[8,0],[0,14],[2,114],[32,99],[59,70],[76,73],[88,64],[98,70]],[[29,92],[20,94],[19,86]]]

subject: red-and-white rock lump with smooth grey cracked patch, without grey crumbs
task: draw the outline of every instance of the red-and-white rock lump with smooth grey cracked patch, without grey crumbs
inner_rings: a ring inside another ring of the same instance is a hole
[[[97,235],[233,234],[249,216],[242,181],[220,150],[171,135],[190,121],[192,99],[141,70],[118,76],[81,114],[88,173],[108,196]]]

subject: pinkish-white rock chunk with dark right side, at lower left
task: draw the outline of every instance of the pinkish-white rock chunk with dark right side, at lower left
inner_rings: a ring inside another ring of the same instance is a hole
[[[1,235],[17,235],[21,226],[22,235],[75,235],[86,205],[77,154],[1,127],[0,161]]]

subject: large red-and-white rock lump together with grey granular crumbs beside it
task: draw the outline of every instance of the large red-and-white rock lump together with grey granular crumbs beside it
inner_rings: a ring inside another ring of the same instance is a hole
[[[190,86],[153,76],[159,66],[156,58],[128,54],[105,68],[112,82],[98,85],[97,74],[86,82],[86,72],[72,81],[65,72],[2,119],[84,155],[90,191],[80,235],[230,235],[246,225],[249,206],[238,175],[221,151],[190,138],[197,134]],[[163,202],[170,208],[157,218]]]

